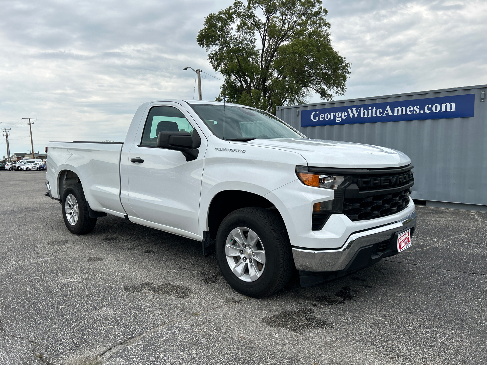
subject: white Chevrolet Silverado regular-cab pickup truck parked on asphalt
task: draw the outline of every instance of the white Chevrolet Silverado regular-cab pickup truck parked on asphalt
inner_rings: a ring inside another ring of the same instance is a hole
[[[241,105],[141,105],[124,143],[50,142],[46,196],[74,234],[112,214],[202,242],[250,296],[350,274],[411,246],[410,159],[309,139]]]

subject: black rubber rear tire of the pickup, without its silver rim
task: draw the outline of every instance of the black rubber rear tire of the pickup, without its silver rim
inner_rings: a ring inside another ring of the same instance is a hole
[[[78,206],[78,219],[75,224],[69,222],[65,211],[66,199],[70,194],[75,197]],[[88,203],[86,202],[85,193],[83,192],[83,187],[80,183],[68,185],[64,190],[61,201],[61,214],[66,228],[75,235],[85,235],[90,233],[93,231],[96,224],[96,218],[90,218],[88,213]]]

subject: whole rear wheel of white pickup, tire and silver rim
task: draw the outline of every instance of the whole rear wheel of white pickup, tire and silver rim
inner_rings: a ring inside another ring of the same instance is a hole
[[[61,201],[61,211],[64,224],[71,233],[84,235],[93,231],[96,218],[90,218],[88,203],[80,183],[66,187]]]

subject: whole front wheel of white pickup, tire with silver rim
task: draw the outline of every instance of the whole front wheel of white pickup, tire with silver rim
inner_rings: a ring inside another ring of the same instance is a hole
[[[293,273],[284,223],[260,207],[238,209],[225,217],[216,237],[216,254],[228,284],[253,297],[278,292]]]

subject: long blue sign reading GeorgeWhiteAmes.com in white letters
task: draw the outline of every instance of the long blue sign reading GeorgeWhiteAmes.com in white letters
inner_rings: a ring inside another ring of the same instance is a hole
[[[473,117],[475,94],[301,110],[301,127]]]

